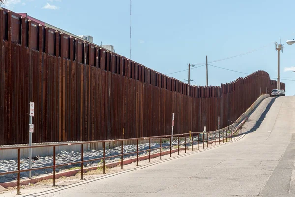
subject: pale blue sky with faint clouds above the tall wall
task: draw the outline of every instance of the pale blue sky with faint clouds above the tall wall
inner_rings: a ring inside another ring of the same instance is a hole
[[[111,44],[129,57],[130,0],[7,0],[5,7],[76,35],[92,35],[94,43]],[[292,7],[294,0],[132,0],[131,59],[168,74],[187,69],[188,63],[205,63],[206,55],[214,61],[258,49],[211,64],[244,73],[265,70],[277,78],[274,42],[281,37],[281,78],[289,80],[281,81],[286,95],[294,95],[295,45],[285,43],[295,39]],[[208,69],[209,85],[245,76]],[[169,76],[183,81],[188,73]],[[206,66],[191,70],[191,79],[206,85]]]

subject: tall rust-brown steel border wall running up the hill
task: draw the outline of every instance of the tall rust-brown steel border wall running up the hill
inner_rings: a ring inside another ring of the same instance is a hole
[[[5,9],[0,38],[0,145],[28,143],[29,101],[34,143],[124,139],[171,134],[172,113],[175,134],[225,127],[277,86],[264,71],[189,86]]]

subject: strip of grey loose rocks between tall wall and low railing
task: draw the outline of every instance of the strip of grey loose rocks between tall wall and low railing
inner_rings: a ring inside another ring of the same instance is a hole
[[[197,144],[197,137],[194,137],[194,144]],[[183,139],[179,140],[179,143],[185,143]],[[191,140],[187,138],[187,146],[190,146]],[[201,142],[200,142],[201,144]],[[170,143],[169,141],[163,141],[162,142],[162,151],[169,150],[170,148],[167,147],[169,146]],[[178,145],[178,140],[177,138],[173,140],[172,146],[177,146]],[[184,145],[180,145],[180,147],[184,147]],[[151,143],[151,149],[153,148],[160,148],[159,143]],[[177,147],[172,147],[172,149],[176,149]],[[139,156],[144,156],[148,155],[148,149],[149,149],[149,143],[143,143],[139,144],[138,146],[139,151],[146,150],[145,152],[139,153]],[[123,153],[130,153],[130,152],[135,152],[136,151],[136,144],[135,145],[123,145]],[[151,151],[151,154],[158,153],[160,152],[160,149],[153,150]],[[106,148],[105,151],[106,157],[109,156],[115,156],[118,154],[121,154],[121,146],[115,147],[108,149]],[[90,150],[90,151],[84,151],[83,152],[83,159],[84,160],[90,160],[90,159],[95,159],[95,158],[101,158],[103,157],[103,150]],[[130,154],[124,156],[125,159],[131,159],[131,158],[136,158],[136,153],[135,154]],[[81,153],[80,152],[67,152],[67,151],[61,151],[61,153],[56,154],[56,164],[64,164],[64,163],[73,163],[81,161]],[[106,163],[113,163],[113,162],[118,162],[121,161],[121,156],[113,157],[110,159],[106,159]],[[93,162],[88,162],[84,163],[85,167],[91,167],[91,166],[97,166],[102,164],[103,160],[99,161],[93,161]],[[20,169],[29,169],[29,159],[27,158],[21,158],[20,162]],[[45,156],[45,157],[39,157],[38,160],[32,160],[32,168],[39,168],[39,167],[45,167],[45,166],[52,166],[53,165],[53,156]],[[69,165],[69,166],[64,166],[64,167],[58,167],[56,168],[56,172],[61,172],[67,169],[71,169],[73,167],[79,167],[80,164],[76,165]],[[1,160],[0,161],[0,173],[1,172],[7,172],[7,171],[13,171],[17,170],[17,160]],[[41,170],[34,170],[32,171],[32,177],[35,178],[36,176],[39,175],[44,175],[44,174],[51,174],[53,172],[53,169],[41,169]],[[20,173],[21,179],[28,179],[29,177],[29,172],[22,172]],[[7,174],[0,176],[0,183],[4,182],[10,182],[14,181],[17,179],[17,174]]]

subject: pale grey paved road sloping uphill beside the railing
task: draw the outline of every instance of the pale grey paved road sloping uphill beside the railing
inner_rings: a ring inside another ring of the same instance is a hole
[[[33,196],[295,197],[295,97],[271,99],[235,141]]]

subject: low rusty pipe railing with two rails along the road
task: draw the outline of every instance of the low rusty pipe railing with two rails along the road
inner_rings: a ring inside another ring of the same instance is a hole
[[[164,148],[169,148],[170,151],[170,157],[172,154],[172,142],[171,142],[171,137],[177,137],[178,143],[177,143],[177,152],[179,155],[179,146],[184,145],[185,146],[185,153],[188,149],[187,144],[191,144],[191,151],[194,151],[194,143],[197,143],[197,150],[199,150],[199,143],[203,143],[203,149],[204,149],[204,143],[207,142],[207,147],[209,147],[209,144],[213,146],[213,140],[215,142],[215,145],[217,145],[217,141],[220,144],[222,141],[227,142],[227,141],[232,141],[233,138],[237,138],[239,135],[243,134],[243,124],[246,121],[246,119],[241,122],[238,126],[235,128],[232,128],[227,132],[231,133],[231,135],[226,136],[226,141],[224,141],[224,135],[223,139],[220,140],[220,132],[224,131],[211,131],[211,132],[206,132],[206,133],[200,133],[200,132],[190,132],[190,133],[184,133],[184,134],[175,134],[175,135],[163,135],[163,136],[152,136],[152,137],[144,137],[144,138],[130,138],[130,139],[119,139],[119,140],[107,140],[107,141],[88,141],[88,142],[73,142],[73,143],[62,143],[62,144],[51,144],[51,145],[35,145],[35,146],[19,146],[19,147],[3,147],[0,148],[1,150],[15,150],[17,149],[17,170],[15,171],[8,171],[8,172],[2,172],[0,175],[6,175],[6,174],[14,174],[17,173],[17,194],[20,194],[20,173],[21,172],[27,172],[27,171],[33,171],[33,170],[40,170],[40,169],[53,169],[53,186],[56,186],[56,168],[57,167],[62,167],[62,166],[69,166],[69,165],[74,165],[74,164],[81,164],[81,180],[83,180],[83,164],[86,162],[91,162],[91,161],[97,161],[97,160],[103,160],[103,174],[105,174],[105,160],[109,158],[114,158],[114,157],[121,157],[121,169],[123,169],[123,157],[126,155],[131,155],[131,154],[136,154],[136,166],[138,166],[138,158],[139,158],[139,153],[142,152],[149,152],[149,162],[151,162],[151,151],[160,149],[160,159],[162,159],[162,139],[167,138],[169,139],[169,146],[165,146]],[[215,134],[215,137],[213,138],[213,133]],[[218,133],[218,138],[217,138],[217,133]],[[191,135],[191,142],[187,142],[188,136]],[[205,138],[207,135],[207,139]],[[200,136],[203,138],[203,140],[199,140]],[[211,141],[209,140],[209,136],[211,136]],[[185,137],[185,142],[184,143],[179,143],[179,138],[180,137]],[[194,141],[194,137],[197,137],[197,141]],[[149,139],[149,149],[148,150],[141,150],[139,151],[138,146],[139,146],[139,140],[142,139]],[[160,147],[159,148],[151,148],[151,139],[160,139]],[[123,141],[137,141],[136,144],[136,151],[135,152],[128,152],[128,153],[123,153]],[[106,150],[106,143],[107,142],[115,142],[115,141],[120,141],[122,146],[121,146],[121,154],[118,155],[112,155],[106,157],[105,155],[105,150]],[[95,158],[95,159],[89,159],[89,160],[84,160],[83,159],[83,146],[84,144],[90,144],[90,143],[103,143],[103,157],[100,158]],[[56,147],[57,146],[71,146],[71,145],[81,145],[81,161],[76,161],[76,162],[71,162],[71,163],[63,163],[63,164],[56,164]],[[39,167],[39,168],[32,168],[32,169],[23,169],[20,170],[20,160],[21,160],[21,155],[20,155],[20,149],[28,149],[28,148],[42,148],[42,147],[53,147],[53,165],[52,166],[45,166],[45,167]]]

